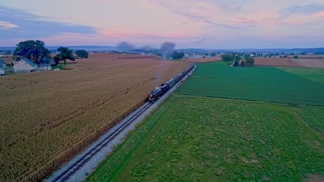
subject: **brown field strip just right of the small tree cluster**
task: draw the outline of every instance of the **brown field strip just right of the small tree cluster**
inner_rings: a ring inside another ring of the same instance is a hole
[[[254,61],[255,61],[254,65],[291,66],[291,67],[302,66],[296,63],[293,59],[289,59],[289,58],[255,57]]]

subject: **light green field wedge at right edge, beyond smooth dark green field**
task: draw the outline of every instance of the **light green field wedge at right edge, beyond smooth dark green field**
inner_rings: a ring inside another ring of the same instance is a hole
[[[324,83],[324,69],[321,68],[289,68],[281,67],[281,70],[290,72],[291,74],[299,75],[300,77],[305,77],[314,81]]]

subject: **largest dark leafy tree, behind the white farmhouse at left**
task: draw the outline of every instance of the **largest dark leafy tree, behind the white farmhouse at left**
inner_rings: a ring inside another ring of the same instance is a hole
[[[45,43],[43,41],[22,41],[17,44],[17,48],[13,52],[13,57],[15,60],[21,58],[27,58],[36,64],[41,63],[43,59],[47,59],[51,52],[45,48]]]

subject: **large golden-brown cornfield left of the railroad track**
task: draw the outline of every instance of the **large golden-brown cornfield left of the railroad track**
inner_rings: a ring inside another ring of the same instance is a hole
[[[39,181],[188,65],[89,54],[68,70],[0,77],[0,181]]]

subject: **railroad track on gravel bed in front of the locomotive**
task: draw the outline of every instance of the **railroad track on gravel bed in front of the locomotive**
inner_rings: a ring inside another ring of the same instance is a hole
[[[127,126],[129,126],[133,121],[135,121],[147,108],[150,108],[152,103],[145,103],[143,108],[136,112],[133,117],[131,117],[128,121],[120,125],[119,128],[117,128],[114,132],[109,134],[108,136],[105,137],[100,143],[96,144],[89,152],[85,153],[83,156],[78,159],[78,161],[75,161],[69,168],[64,170],[61,174],[59,174],[53,181],[68,181],[75,172],[77,172],[84,164],[86,164],[90,159],[95,156],[102,148],[104,148],[106,145],[110,143],[111,140],[113,140],[120,132],[125,130]]]

